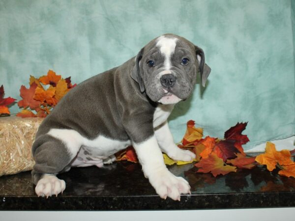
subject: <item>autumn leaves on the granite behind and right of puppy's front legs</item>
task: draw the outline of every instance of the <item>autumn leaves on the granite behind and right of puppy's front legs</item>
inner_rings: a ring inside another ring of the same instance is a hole
[[[237,168],[252,169],[258,165],[266,165],[269,171],[278,167],[280,175],[295,178],[295,162],[291,160],[295,150],[277,151],[273,143],[267,142],[264,154],[256,157],[246,156],[242,145],[246,144],[249,139],[246,135],[241,134],[246,126],[247,123],[237,123],[225,132],[223,139],[209,136],[203,138],[203,129],[196,128],[195,122],[190,120],[187,122],[185,135],[178,147],[194,152],[196,154],[194,162],[197,162],[195,166],[198,167],[198,172],[212,173],[214,177],[219,174],[236,172]],[[138,162],[133,147],[118,152],[116,157],[118,161]],[[166,154],[163,154],[163,158],[166,165],[193,163],[174,161]]]

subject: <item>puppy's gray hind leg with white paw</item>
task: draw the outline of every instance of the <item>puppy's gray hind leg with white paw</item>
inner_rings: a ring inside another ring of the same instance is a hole
[[[79,148],[77,146],[74,149],[78,152]],[[77,153],[69,153],[65,142],[46,134],[35,140],[32,154],[35,165],[31,173],[36,194],[48,197],[62,193],[65,182],[57,178],[56,174],[65,170]]]

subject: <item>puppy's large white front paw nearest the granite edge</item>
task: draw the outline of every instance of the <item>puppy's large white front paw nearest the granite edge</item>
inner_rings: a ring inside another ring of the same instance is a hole
[[[188,182],[182,177],[177,177],[167,169],[155,172],[149,176],[149,182],[156,193],[163,199],[167,196],[180,201],[180,194],[191,194]]]

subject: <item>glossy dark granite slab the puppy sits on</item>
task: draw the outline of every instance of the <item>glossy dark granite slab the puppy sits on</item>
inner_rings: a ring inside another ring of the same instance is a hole
[[[59,175],[66,182],[62,195],[37,197],[30,172],[0,177],[0,210],[162,210],[262,208],[295,206],[295,179],[260,166],[214,178],[197,173],[192,164],[168,166],[189,181],[191,195],[181,201],[163,200],[129,162],[105,168],[72,168]]]

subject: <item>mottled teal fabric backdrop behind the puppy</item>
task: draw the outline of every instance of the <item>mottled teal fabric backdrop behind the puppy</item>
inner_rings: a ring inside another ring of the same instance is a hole
[[[49,69],[81,83],[175,33],[212,69],[206,88],[175,107],[175,141],[190,119],[220,138],[248,121],[249,149],[295,134],[294,12],[294,0],[0,0],[0,84],[20,99],[29,75]]]

